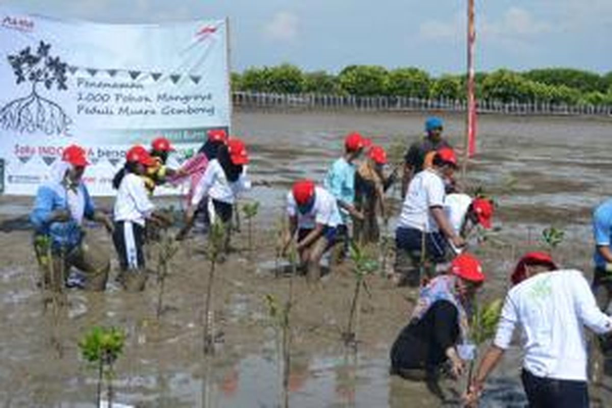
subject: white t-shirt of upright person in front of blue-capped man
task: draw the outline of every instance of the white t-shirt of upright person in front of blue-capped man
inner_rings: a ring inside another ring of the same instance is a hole
[[[401,207],[401,228],[416,228],[424,232],[438,231],[438,224],[431,217],[431,207],[444,207],[444,181],[432,169],[417,173],[408,185]]]

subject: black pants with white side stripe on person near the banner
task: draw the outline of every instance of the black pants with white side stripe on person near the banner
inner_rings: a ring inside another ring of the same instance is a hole
[[[122,270],[144,267],[144,227],[129,221],[114,223],[113,243]]]

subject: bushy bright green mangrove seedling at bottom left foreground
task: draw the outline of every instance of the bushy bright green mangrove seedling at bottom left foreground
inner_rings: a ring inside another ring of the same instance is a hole
[[[98,370],[97,407],[102,403],[102,382],[106,381],[108,406],[113,406],[114,362],[122,354],[125,333],[115,327],[93,327],[78,343],[81,356]]]

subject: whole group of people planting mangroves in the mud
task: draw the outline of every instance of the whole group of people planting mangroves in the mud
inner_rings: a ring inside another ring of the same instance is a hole
[[[474,226],[491,228],[493,202],[461,191],[454,177],[455,150],[442,138],[443,122],[425,122],[425,137],[409,147],[401,175],[402,206],[395,230],[395,278],[419,286],[419,300],[408,325],[395,340],[390,359],[392,373],[408,379],[435,380],[443,374],[459,377],[473,354],[469,318],[472,301],[485,281],[482,265],[466,251]],[[166,165],[173,150],[163,137],[151,149],[134,146],[125,165],[114,176],[117,190],[112,220],[95,209],[82,177],[89,165],[79,146],[64,149],[62,160],[35,198],[31,221],[35,251],[51,254],[43,284],[58,289],[69,284],[103,290],[110,262],[103,251],[93,250],[83,229],[84,220],[102,223],[112,234],[121,272],[118,281],[140,291],[146,281],[143,245],[147,227],[168,226],[167,215],[156,209],[152,192],[161,184],[187,182],[185,226],[176,239],[185,239],[202,217],[219,220],[230,239],[230,224],[237,196],[256,184],[247,176],[247,148],[225,130],[212,130],[207,141],[180,168]],[[330,164],[321,183],[302,179],[286,195],[289,228],[280,243],[283,253],[291,245],[299,254],[310,280],[321,275],[323,255],[334,248],[332,260],[341,261],[351,241],[377,243],[379,221],[390,216],[385,194],[398,181],[400,167],[387,174],[387,154],[359,133],[344,140],[343,154]],[[488,374],[510,346],[515,328],[523,333],[526,352],[521,379],[533,407],[587,407],[586,340],[584,327],[603,334],[612,331],[612,319],[602,310],[611,299],[612,201],[595,211],[595,286],[577,270],[559,269],[550,254],[523,256],[512,273],[493,344],[476,370],[465,398],[476,404]],[[45,239],[39,239],[45,237]],[[44,245],[43,245],[44,243]],[[78,275],[63,276],[71,267]]]

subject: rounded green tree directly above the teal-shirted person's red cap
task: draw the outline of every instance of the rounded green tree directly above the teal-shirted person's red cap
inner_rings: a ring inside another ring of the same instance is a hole
[[[338,81],[341,89],[350,95],[384,95],[387,70],[378,65],[349,65],[340,72]]]

